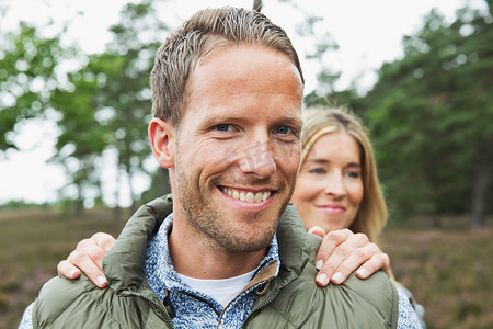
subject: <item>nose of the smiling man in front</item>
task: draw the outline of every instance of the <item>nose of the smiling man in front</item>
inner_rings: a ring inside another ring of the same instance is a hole
[[[275,149],[268,138],[256,138],[243,149],[240,170],[259,179],[272,175],[277,169]]]

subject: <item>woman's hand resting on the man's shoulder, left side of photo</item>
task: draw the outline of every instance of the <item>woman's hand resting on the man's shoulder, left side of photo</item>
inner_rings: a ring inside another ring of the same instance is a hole
[[[80,241],[67,260],[58,263],[58,275],[77,279],[82,271],[96,286],[107,286],[103,273],[103,257],[115,243],[115,238],[105,232],[96,232]]]

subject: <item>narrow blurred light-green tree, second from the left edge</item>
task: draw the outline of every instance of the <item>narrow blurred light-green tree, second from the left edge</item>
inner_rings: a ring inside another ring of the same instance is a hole
[[[76,215],[80,216],[84,201],[101,197],[101,179],[96,160],[111,140],[111,133],[99,120],[96,97],[104,84],[104,76],[94,75],[93,63],[68,73],[68,88],[58,88],[51,104],[58,110],[60,134],[53,161],[64,166],[69,182],[66,189],[76,188]],[[91,193],[92,192],[92,193]]]

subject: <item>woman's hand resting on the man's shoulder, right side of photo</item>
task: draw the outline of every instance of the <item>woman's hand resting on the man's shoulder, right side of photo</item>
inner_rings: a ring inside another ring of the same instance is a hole
[[[341,284],[356,271],[356,276],[367,279],[378,270],[390,276],[389,256],[368,240],[364,234],[354,234],[349,229],[325,231],[316,226],[308,230],[323,238],[317,253],[316,282],[325,286],[329,282]]]

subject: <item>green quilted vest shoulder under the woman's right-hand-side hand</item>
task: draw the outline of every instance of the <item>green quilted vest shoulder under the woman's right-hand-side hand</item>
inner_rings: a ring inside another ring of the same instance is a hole
[[[388,276],[380,271],[360,280],[353,273],[343,284],[318,286],[314,281],[316,254],[321,239],[309,236],[308,261],[296,279],[280,287],[268,307],[277,314],[278,320],[283,318],[290,324],[313,328],[365,327],[368,324],[375,328],[395,328],[399,296]]]

